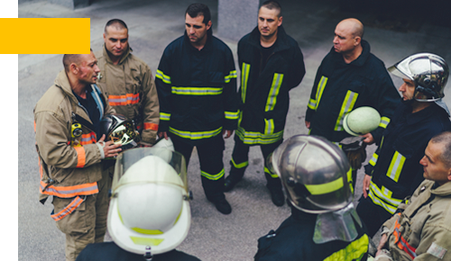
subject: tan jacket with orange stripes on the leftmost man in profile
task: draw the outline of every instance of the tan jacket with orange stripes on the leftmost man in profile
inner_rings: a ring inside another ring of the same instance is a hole
[[[96,101],[106,101],[96,85],[91,87],[91,94]],[[99,111],[103,108],[103,114],[115,113],[106,102],[100,103],[99,108]],[[49,195],[72,198],[98,193],[97,181],[102,177],[100,162],[103,150],[100,150],[96,142],[100,137],[97,137],[94,130],[81,125],[82,135],[72,138],[72,124],[81,121],[75,120],[75,115],[92,124],[85,109],[78,104],[68,76],[62,70],[54,85],[51,85],[34,107],[42,203]]]

